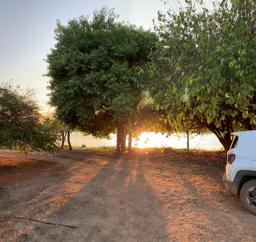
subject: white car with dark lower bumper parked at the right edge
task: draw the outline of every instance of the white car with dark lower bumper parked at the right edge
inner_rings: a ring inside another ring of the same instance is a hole
[[[227,190],[256,215],[256,130],[234,132],[223,176]]]

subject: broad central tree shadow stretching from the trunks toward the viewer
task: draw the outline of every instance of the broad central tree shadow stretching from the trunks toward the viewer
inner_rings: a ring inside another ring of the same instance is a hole
[[[72,241],[170,241],[163,205],[145,179],[143,164],[110,159],[100,172],[55,214],[75,230],[60,228]],[[49,231],[48,240],[54,230]]]

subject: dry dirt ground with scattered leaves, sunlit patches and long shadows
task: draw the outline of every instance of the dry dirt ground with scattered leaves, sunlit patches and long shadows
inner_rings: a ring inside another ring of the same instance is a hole
[[[0,242],[256,241],[224,167],[220,152],[0,151]]]

